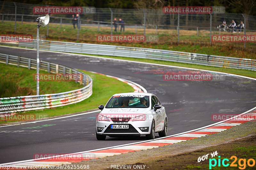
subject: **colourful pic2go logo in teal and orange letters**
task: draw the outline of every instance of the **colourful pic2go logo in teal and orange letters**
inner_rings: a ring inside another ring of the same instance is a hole
[[[225,163],[225,161],[229,161],[227,158],[225,158],[225,159],[222,159],[222,161],[220,160],[220,156],[218,156],[218,166],[220,166],[220,163],[222,164],[222,166],[225,166],[225,167],[227,167],[227,166],[229,166],[229,163]],[[231,164],[230,164],[230,166],[233,166],[233,167],[237,167],[237,164],[235,164],[236,163],[236,160],[237,160],[237,157],[236,156],[231,156],[230,157],[230,159],[235,159]],[[213,164],[212,164],[212,161],[214,162]],[[248,159],[247,160],[247,162],[246,162],[246,159],[239,159],[238,160],[238,168],[239,169],[245,169],[246,168],[246,163],[247,163],[247,165],[248,166],[254,166],[255,165],[255,160],[254,159]],[[215,158],[213,158],[213,159],[209,159],[209,169],[212,169],[212,167],[214,167],[214,166],[216,166],[217,165],[217,160],[215,159]]]

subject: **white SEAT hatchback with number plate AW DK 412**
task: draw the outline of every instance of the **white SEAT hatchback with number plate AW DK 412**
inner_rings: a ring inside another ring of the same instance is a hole
[[[158,98],[151,93],[120,93],[113,95],[96,119],[96,137],[146,135],[154,139],[155,133],[167,136],[167,116]]]

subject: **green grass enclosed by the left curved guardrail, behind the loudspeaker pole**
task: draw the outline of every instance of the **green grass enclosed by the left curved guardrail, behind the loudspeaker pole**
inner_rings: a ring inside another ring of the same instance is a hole
[[[36,70],[0,63],[0,97],[36,95]],[[40,74],[48,74],[40,70]],[[2,81],[3,80],[3,81]],[[39,94],[60,93],[82,88],[75,81],[40,81]]]

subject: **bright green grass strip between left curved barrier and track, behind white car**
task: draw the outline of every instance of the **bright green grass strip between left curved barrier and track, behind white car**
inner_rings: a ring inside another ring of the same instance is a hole
[[[90,96],[88,99],[82,102],[67,105],[67,106],[61,106],[61,107],[45,109],[45,110],[28,111],[25,113],[35,114],[36,118],[42,118],[42,117],[45,118],[45,117],[53,117],[53,116],[59,116],[59,115],[64,115],[69,113],[81,112],[85,110],[96,109],[100,104],[105,105],[108,99],[115,93],[125,93],[125,92],[134,91],[134,89],[128,84],[122,81],[118,81],[114,78],[109,78],[99,74],[92,74],[86,71],[83,71],[83,72],[91,76],[93,80],[93,86],[92,86],[93,93],[92,93],[92,96]],[[0,121],[0,123],[6,123],[6,122]]]

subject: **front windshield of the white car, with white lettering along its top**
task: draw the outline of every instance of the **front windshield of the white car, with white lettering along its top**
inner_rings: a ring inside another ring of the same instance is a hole
[[[149,96],[121,95],[112,96],[106,108],[148,108]]]

